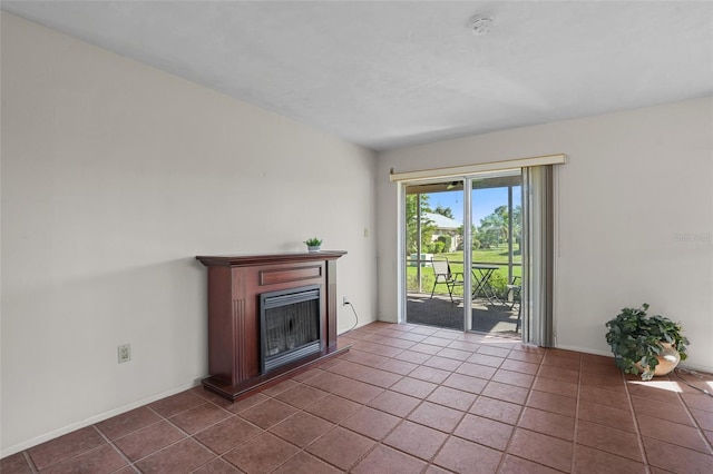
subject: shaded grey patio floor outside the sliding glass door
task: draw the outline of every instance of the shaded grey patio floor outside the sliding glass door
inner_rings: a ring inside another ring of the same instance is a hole
[[[463,300],[448,295],[421,293],[407,294],[407,322],[449,329],[463,329]],[[490,304],[487,299],[476,298],[472,302],[472,330],[491,333],[499,336],[519,337],[517,326],[518,306],[510,309],[510,304]]]

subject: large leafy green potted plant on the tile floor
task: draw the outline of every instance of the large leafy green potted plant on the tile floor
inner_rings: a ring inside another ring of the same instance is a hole
[[[662,352],[662,343],[668,343],[678,350],[681,359],[688,354],[686,345],[691,344],[682,334],[681,323],[674,323],[667,317],[646,316],[648,304],[641,308],[623,308],[614,319],[606,323],[609,329],[606,342],[612,347],[616,366],[627,374],[638,375],[649,381],[654,376]]]

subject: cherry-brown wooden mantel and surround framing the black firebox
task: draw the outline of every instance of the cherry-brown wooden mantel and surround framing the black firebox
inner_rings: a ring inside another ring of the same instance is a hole
[[[208,373],[205,388],[238,399],[349,350],[336,344],[336,259],[342,250],[198,256],[208,268]],[[320,285],[322,344],[318,354],[260,373],[260,295]]]

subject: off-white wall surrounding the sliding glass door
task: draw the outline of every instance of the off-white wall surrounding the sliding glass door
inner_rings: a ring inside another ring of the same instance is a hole
[[[681,320],[713,371],[713,98],[379,154],[379,314],[397,320],[397,172],[564,152],[557,169],[556,344],[611,354],[625,306]]]

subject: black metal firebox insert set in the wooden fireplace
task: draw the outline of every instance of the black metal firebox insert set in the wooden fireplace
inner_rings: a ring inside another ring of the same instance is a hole
[[[322,350],[321,285],[260,295],[261,373]]]

